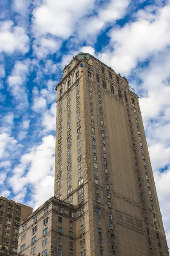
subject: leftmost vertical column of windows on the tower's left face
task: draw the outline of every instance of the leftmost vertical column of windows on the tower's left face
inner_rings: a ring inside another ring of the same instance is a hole
[[[57,198],[62,200],[62,102],[59,104]]]

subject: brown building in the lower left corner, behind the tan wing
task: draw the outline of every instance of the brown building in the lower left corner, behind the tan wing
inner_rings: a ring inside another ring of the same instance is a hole
[[[0,197],[0,245],[17,253],[20,222],[32,213],[32,208]]]

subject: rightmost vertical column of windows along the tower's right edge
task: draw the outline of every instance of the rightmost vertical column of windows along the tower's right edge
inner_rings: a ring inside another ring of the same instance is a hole
[[[138,131],[138,137],[139,137],[139,144],[140,144],[140,147],[141,147],[141,154],[142,154],[142,159],[143,159],[144,172],[145,172],[145,176],[146,176],[148,193],[150,195],[150,202],[151,202],[150,206],[151,206],[152,211],[154,211],[155,208],[154,208],[154,205],[153,205],[153,198],[151,197],[152,192],[151,192],[151,189],[150,189],[149,176],[148,176],[148,173],[147,173],[147,165],[146,165],[146,162],[145,162],[144,149],[143,149],[143,144],[142,144],[142,138],[141,138],[141,133],[140,133],[140,128],[139,128],[139,123],[138,123],[138,116],[137,116],[137,112],[136,112],[136,108],[135,108],[135,100],[133,98],[131,100],[132,100],[136,125],[137,125],[137,129],[138,129],[137,131]],[[154,219],[154,226],[157,229],[158,226],[157,226],[157,221],[156,221],[156,218],[155,218],[155,213],[153,213],[153,219]],[[147,229],[147,235],[149,235],[149,234],[150,234],[149,229]],[[159,233],[156,233],[156,237],[157,237],[157,239],[159,239]],[[151,240],[149,238],[148,238],[148,243],[149,243],[149,245],[151,245]],[[158,242],[158,247],[161,248],[161,243],[160,242]],[[161,255],[161,252],[160,252],[160,255]]]

